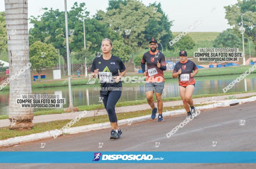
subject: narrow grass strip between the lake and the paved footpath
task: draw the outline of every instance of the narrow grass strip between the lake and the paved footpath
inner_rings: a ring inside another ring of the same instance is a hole
[[[201,94],[201,95],[193,95],[193,98],[205,98],[205,97],[216,97],[216,96],[223,96],[223,95],[232,95],[232,94],[240,94],[240,93],[252,93],[256,92],[254,91],[244,91],[244,92],[230,92],[230,93],[215,93],[215,94]],[[252,95],[255,96],[255,95]],[[243,98],[249,98],[252,96],[246,96]],[[227,99],[234,99],[234,97],[229,97]],[[239,98],[237,98],[239,99]],[[169,101],[177,101],[181,100],[180,97],[173,97],[173,98],[162,98],[163,102],[169,102]],[[157,99],[154,97],[154,101],[157,102]],[[140,105],[140,104],[147,104],[147,100],[135,100],[135,101],[126,101],[126,102],[118,102],[116,104],[116,107],[123,107],[123,106],[134,106],[134,105]],[[164,107],[165,108],[165,107]],[[98,110],[98,109],[104,109],[103,104],[91,104],[91,105],[84,105],[84,106],[79,106],[78,110],[79,111],[90,111],[90,110]],[[34,116],[37,115],[48,115],[48,114],[61,114],[65,113],[63,109],[53,109],[53,110],[47,110],[47,111],[35,111]],[[1,119],[8,119],[8,115],[0,115],[0,120]]]

